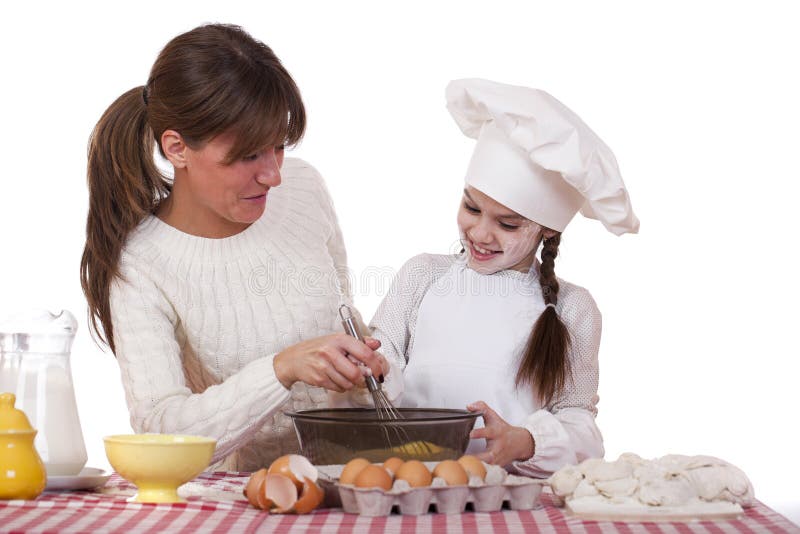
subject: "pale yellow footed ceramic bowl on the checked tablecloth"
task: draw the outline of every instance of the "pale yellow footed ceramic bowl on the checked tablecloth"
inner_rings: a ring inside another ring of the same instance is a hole
[[[216,440],[172,434],[131,434],[103,438],[114,470],[136,484],[135,502],[182,502],[178,486],[208,467]]]

